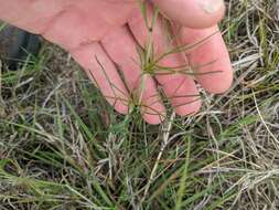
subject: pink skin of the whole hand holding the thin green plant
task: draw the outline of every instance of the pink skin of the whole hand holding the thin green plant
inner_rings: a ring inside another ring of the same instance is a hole
[[[223,93],[232,84],[228,52],[216,25],[225,7],[218,2],[221,7],[206,9],[205,1],[148,1],[150,20],[155,6],[161,12],[152,33],[155,57],[178,45],[193,46],[163,57],[158,65],[176,71],[181,71],[178,66],[191,66],[195,76],[142,76],[137,48],[146,46],[150,35],[136,0],[0,0],[0,19],[67,50],[117,112],[129,112],[132,93],[140,98],[142,117],[159,124],[165,108],[158,95],[158,84],[182,116],[201,107],[195,81],[210,93]],[[171,21],[175,39],[167,39],[165,19]],[[211,39],[196,44],[208,35]]]

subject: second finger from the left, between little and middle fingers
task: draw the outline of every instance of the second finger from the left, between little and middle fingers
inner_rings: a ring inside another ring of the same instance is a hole
[[[150,124],[162,123],[164,106],[157,92],[154,81],[142,74],[137,44],[126,27],[116,29],[103,39],[107,53],[124,73],[131,95],[141,105],[143,118]]]

